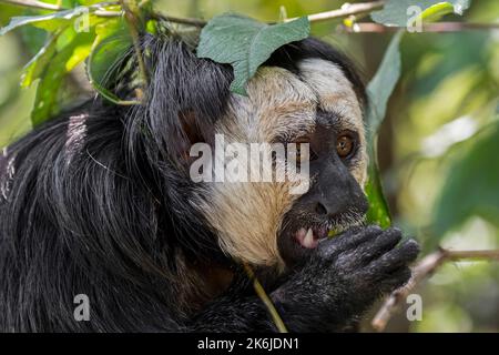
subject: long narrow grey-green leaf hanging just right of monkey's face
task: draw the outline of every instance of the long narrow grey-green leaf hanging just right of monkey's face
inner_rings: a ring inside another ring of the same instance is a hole
[[[386,106],[391,92],[400,78],[399,43],[404,32],[394,36],[373,80],[367,85],[369,106],[367,111],[367,146],[369,155],[368,181],[366,194],[369,201],[367,220],[381,227],[390,225],[388,204],[383,193],[377,162],[376,135],[385,119]]]

